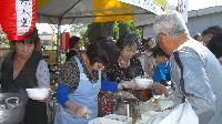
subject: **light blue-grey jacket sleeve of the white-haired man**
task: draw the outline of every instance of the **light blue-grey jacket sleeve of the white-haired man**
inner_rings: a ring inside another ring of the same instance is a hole
[[[203,65],[204,59],[192,49],[185,49],[179,55],[184,70],[185,92],[193,95],[190,102],[200,120],[210,121],[214,114],[215,95]]]

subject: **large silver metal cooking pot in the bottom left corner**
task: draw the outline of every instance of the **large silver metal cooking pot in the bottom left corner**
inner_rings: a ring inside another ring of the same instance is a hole
[[[28,96],[19,93],[0,93],[0,124],[18,124],[24,116]]]

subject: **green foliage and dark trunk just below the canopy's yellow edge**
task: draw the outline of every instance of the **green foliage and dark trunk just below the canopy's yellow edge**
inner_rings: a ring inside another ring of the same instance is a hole
[[[92,24],[72,24],[71,34],[78,34],[83,41],[93,40],[98,37],[112,37],[117,40],[121,34],[132,31],[139,38],[142,35],[142,28],[135,28],[133,21],[127,22],[104,22]]]

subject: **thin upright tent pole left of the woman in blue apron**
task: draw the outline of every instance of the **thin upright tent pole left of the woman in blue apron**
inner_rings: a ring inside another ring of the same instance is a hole
[[[61,64],[61,45],[60,45],[61,21],[62,21],[62,19],[59,18],[58,33],[57,33],[57,66],[59,69],[60,69],[60,64]]]

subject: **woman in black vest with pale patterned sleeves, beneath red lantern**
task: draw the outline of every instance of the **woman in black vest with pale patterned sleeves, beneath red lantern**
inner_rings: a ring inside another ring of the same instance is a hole
[[[7,54],[0,79],[3,92],[26,93],[26,89],[50,87],[48,65],[38,51],[38,30],[33,29],[24,40],[11,41],[14,51]],[[47,99],[28,100],[22,124],[48,124]]]

